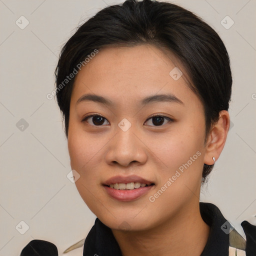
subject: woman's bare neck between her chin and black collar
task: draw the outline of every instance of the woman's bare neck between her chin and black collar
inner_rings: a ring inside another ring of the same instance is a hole
[[[209,229],[201,218],[198,203],[192,210],[181,209],[178,215],[151,229],[126,232],[112,229],[112,232],[122,256],[199,256],[207,242]]]

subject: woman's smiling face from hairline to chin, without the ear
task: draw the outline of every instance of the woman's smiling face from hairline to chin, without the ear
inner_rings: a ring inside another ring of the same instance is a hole
[[[154,46],[107,47],[75,77],[71,168],[84,202],[110,228],[146,230],[198,207],[204,111],[173,68]]]

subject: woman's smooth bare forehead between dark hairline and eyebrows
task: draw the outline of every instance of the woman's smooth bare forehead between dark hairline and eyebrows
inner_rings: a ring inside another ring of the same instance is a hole
[[[103,94],[113,102],[162,93],[179,98],[194,94],[177,58],[152,45],[99,49],[76,75],[71,100],[85,93]]]

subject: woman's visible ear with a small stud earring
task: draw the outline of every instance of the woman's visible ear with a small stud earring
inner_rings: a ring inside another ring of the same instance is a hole
[[[212,126],[207,137],[204,163],[212,165],[214,163],[212,157],[215,157],[215,160],[218,159],[226,141],[229,124],[230,119],[228,112],[226,110],[221,110],[219,112],[218,121]]]

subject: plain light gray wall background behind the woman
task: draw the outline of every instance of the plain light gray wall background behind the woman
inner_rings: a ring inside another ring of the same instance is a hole
[[[1,256],[19,255],[33,238],[55,243],[61,254],[84,238],[94,223],[95,216],[66,177],[70,166],[61,116],[55,100],[46,94],[54,89],[60,47],[75,27],[104,6],[120,2],[0,0]],[[240,222],[253,221],[256,213],[256,1],[171,2],[208,22],[230,55],[233,126],[200,199],[215,203],[243,235]],[[29,21],[24,29],[15,24],[21,15]],[[220,23],[226,15],[234,21],[229,29]],[[21,118],[29,124],[23,131],[16,127]],[[23,235],[15,228],[21,220],[29,226]]]

